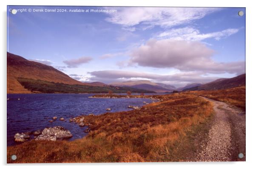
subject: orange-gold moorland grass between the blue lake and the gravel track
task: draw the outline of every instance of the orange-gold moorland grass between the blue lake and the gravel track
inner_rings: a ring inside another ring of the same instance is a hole
[[[7,162],[179,161],[177,143],[211,115],[212,104],[191,94],[157,97],[165,101],[146,105],[142,110],[83,116],[91,132],[82,139],[28,141],[9,146]],[[13,154],[17,155],[16,161],[10,159]]]

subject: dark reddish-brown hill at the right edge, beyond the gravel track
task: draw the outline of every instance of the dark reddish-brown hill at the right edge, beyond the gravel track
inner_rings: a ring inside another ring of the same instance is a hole
[[[242,74],[233,78],[217,79],[213,82],[209,82],[197,87],[187,88],[185,90],[219,90],[219,89],[228,89],[232,87],[245,86],[245,79],[246,79],[246,75]]]

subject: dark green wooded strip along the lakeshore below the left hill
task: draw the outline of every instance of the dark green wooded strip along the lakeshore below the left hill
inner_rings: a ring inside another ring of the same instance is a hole
[[[41,93],[108,93],[110,90],[114,93],[155,93],[154,91],[134,89],[130,87],[115,86],[92,86],[92,85],[70,85],[57,82],[48,82],[38,79],[17,78],[17,81],[32,92]]]

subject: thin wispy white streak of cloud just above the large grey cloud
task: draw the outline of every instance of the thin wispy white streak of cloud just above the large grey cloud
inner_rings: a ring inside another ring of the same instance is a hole
[[[217,31],[207,34],[201,34],[198,29],[185,27],[176,28],[169,31],[164,31],[158,35],[156,38],[159,39],[173,39],[173,40],[188,40],[188,41],[201,41],[208,38],[214,38],[216,40],[229,37],[232,34],[236,34],[239,29],[229,28],[223,31]]]

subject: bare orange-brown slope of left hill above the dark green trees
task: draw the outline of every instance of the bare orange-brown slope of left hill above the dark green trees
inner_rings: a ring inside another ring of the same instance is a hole
[[[69,85],[90,85],[72,79],[51,66],[29,61],[21,56],[7,52],[7,93],[31,93],[20,85],[17,81],[18,77]]]

